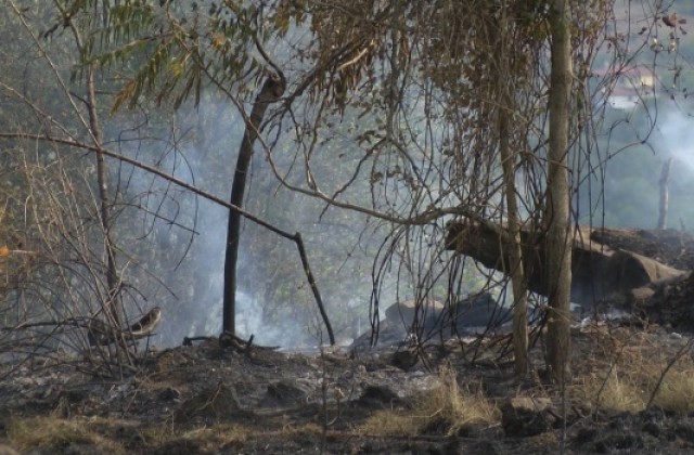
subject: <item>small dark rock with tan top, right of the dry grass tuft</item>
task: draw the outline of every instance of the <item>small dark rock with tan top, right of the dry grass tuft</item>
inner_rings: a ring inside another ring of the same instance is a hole
[[[501,405],[501,426],[509,437],[530,437],[549,430],[555,421],[552,400],[516,396]]]

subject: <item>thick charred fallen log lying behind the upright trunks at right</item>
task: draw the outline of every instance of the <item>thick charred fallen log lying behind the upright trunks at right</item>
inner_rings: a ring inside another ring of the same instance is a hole
[[[512,276],[513,242],[506,224],[460,221],[449,223],[447,229],[448,249]],[[615,298],[628,298],[634,288],[678,281],[687,274],[694,261],[683,252],[694,251],[694,239],[689,240],[677,231],[583,226],[573,233],[571,244],[570,301],[580,303],[583,310],[605,300],[617,303]],[[549,297],[547,234],[522,229],[520,248],[526,288]],[[646,256],[654,252],[667,260],[660,262]]]

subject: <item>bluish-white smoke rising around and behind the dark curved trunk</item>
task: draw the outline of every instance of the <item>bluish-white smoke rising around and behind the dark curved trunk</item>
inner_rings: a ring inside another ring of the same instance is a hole
[[[203,100],[200,108],[177,113],[175,122],[178,136],[164,145],[149,144],[145,158],[228,199],[243,134],[243,121],[231,103]],[[145,159],[142,148],[140,143],[140,148],[127,153]],[[219,335],[229,210],[142,170],[119,168],[114,179],[124,197],[139,207],[139,217],[141,209],[147,213],[137,232],[124,232],[120,242],[137,239],[145,245],[140,248],[140,261],[162,280],[139,283],[139,291],[151,304],[163,308],[156,344],[180,344],[184,336]],[[357,247],[361,231],[355,231],[363,217],[324,211],[321,204],[283,190],[259,146],[245,208],[280,229],[301,232],[338,338],[354,335],[350,328],[359,322],[362,329],[369,328],[372,257],[364,245],[371,239],[364,235],[368,240]],[[253,335],[256,343],[282,348],[327,340],[295,244],[247,220],[242,224],[237,263],[236,333],[243,338]]]

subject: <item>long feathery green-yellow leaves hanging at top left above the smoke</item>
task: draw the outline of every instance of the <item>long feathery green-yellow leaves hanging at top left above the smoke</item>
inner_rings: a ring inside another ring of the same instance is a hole
[[[252,55],[260,35],[254,5],[82,0],[68,10],[86,30],[76,76],[94,64],[125,75],[113,110],[144,100],[178,107],[192,96],[197,104],[206,82],[242,89],[260,69]]]

